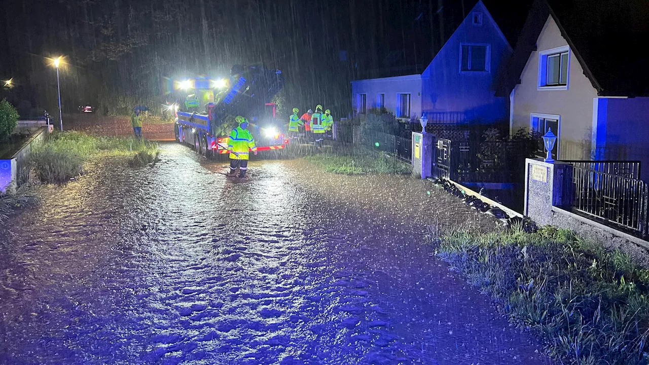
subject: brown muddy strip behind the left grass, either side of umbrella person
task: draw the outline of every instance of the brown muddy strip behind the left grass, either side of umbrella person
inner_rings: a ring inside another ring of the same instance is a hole
[[[133,128],[126,116],[101,116],[99,114],[66,114],[63,117],[66,130],[86,132],[97,136],[132,136]],[[175,139],[173,122],[142,123],[142,134],[147,140],[171,141]]]

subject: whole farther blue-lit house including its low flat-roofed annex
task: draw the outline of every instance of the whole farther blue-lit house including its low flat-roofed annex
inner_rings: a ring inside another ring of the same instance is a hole
[[[496,96],[493,84],[511,51],[478,1],[421,74],[352,81],[352,105],[361,114],[383,107],[406,119],[425,113],[429,123],[506,123],[509,98]]]

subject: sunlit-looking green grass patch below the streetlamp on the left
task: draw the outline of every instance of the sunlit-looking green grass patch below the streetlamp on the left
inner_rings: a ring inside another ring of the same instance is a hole
[[[157,155],[158,145],[154,142],[70,131],[47,136],[45,143],[34,149],[31,163],[43,183],[64,184],[82,173],[90,157],[121,156],[129,158],[130,166],[145,166]]]

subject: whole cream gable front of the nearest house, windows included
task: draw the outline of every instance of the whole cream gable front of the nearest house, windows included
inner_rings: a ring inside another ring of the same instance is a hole
[[[568,53],[567,57],[562,56],[565,53]],[[551,57],[550,62],[548,57]],[[552,72],[557,64],[558,75]],[[559,82],[555,82],[557,80]],[[565,81],[565,85],[561,81]],[[539,128],[539,132],[545,134],[545,131],[540,131],[539,122],[547,121],[546,124],[552,126],[552,132],[559,138],[555,147],[558,158],[583,160],[591,157],[593,99],[597,98],[597,91],[583,74],[582,66],[567,40],[561,36],[552,16],[548,16],[537,39],[537,51],[528,58],[520,75],[520,84],[511,98],[511,133],[520,128]],[[557,125],[557,131],[554,125]]]

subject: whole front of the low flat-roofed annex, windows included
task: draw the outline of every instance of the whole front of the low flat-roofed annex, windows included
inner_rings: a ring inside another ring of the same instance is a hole
[[[386,108],[397,118],[419,118],[421,75],[352,81],[352,101],[354,110],[359,114],[371,109]],[[384,105],[381,105],[382,102]]]

